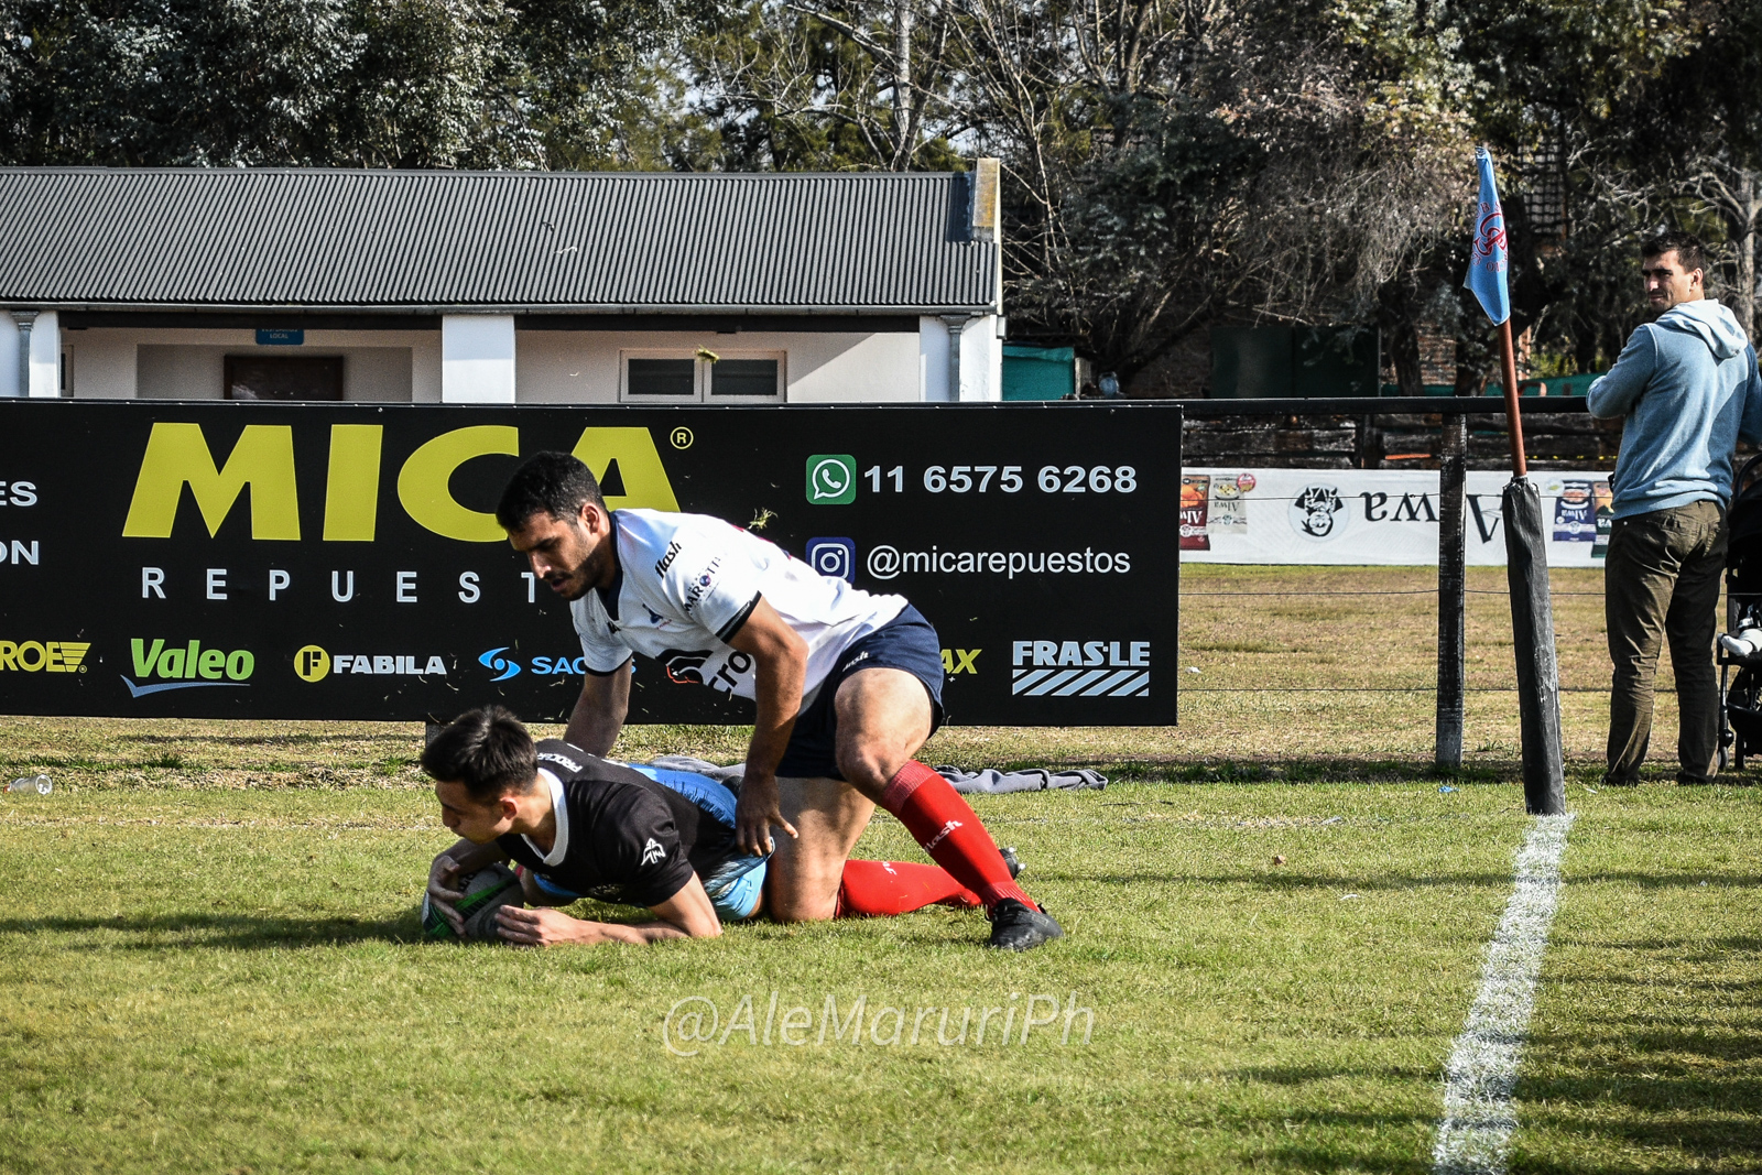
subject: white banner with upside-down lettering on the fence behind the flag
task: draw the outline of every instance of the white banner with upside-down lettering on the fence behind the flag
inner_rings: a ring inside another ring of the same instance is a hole
[[[1531,474],[1549,567],[1602,567],[1609,477]],[[1505,564],[1499,495],[1510,474],[1468,474],[1468,562]],[[1438,470],[1188,469],[1181,560],[1195,564],[1436,565]]]

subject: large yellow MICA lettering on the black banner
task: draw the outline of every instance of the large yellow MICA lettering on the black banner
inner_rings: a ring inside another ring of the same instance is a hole
[[[382,425],[331,425],[329,469],[324,481],[326,543],[372,543],[379,523]],[[426,440],[398,470],[398,502],[425,530],[460,543],[506,539],[495,514],[460,506],[448,490],[453,470],[474,456],[520,454],[513,425],[455,428]],[[601,481],[615,463],[624,493],[606,495],[606,506],[677,511],[673,483],[647,428],[587,428],[574,444]],[[129,539],[169,539],[183,486],[190,488],[208,534],[250,486],[250,537],[298,541],[300,495],[294,477],[291,425],[247,425],[226,463],[215,462],[201,425],[153,425],[122,534]]]

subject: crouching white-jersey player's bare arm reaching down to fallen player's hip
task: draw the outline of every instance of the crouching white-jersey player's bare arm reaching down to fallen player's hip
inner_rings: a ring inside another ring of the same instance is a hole
[[[777,765],[782,763],[795,715],[802,708],[807,641],[759,597],[728,643],[752,657],[752,694],[758,703],[752,743],[747,747],[747,773],[740,780],[740,802],[735,805],[735,840],[744,853],[763,856],[772,851],[774,824],[796,835],[795,824],[777,807]]]

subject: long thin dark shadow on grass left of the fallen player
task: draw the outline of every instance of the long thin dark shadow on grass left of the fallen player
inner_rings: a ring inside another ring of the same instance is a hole
[[[236,951],[287,950],[300,946],[351,946],[354,942],[423,942],[414,914],[368,918],[280,918],[270,914],[155,914],[115,918],[0,918],[0,937],[100,935],[86,942],[58,944],[63,950],[166,950],[167,946],[226,948]],[[125,935],[122,942],[115,935]]]

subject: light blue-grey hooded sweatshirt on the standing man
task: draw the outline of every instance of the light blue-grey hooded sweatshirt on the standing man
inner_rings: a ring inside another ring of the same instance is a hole
[[[1711,298],[1677,303],[1633,331],[1591,384],[1591,416],[1626,418],[1609,479],[1616,518],[1732,497],[1737,439],[1762,440],[1757,352]]]

